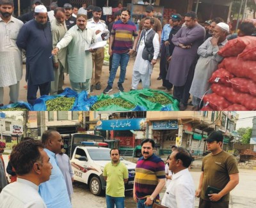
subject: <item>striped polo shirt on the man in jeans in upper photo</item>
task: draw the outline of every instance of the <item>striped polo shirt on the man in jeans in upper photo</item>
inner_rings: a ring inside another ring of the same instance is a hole
[[[128,20],[127,23],[118,20],[113,25],[111,34],[115,36],[112,51],[115,54],[124,54],[132,48],[132,37],[138,36],[136,25]]]

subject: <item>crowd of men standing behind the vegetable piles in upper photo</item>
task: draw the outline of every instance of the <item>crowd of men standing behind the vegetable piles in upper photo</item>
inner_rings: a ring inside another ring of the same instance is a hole
[[[173,14],[168,24],[154,15],[154,7],[146,7],[145,18],[137,27],[132,22],[131,11],[119,4],[115,8],[115,21],[106,25],[101,20],[102,9],[83,4],[74,8],[52,3],[47,11],[40,0],[33,1],[33,11],[16,19],[12,17],[13,0],[0,1],[0,105],[3,105],[3,87],[10,87],[10,103],[19,100],[19,82],[22,78],[22,50],[26,51],[27,100],[32,105],[36,93],[40,95],[63,92],[64,73],[69,74],[70,85],[77,93],[102,87],[104,47],[89,49],[90,45],[108,40],[109,78],[103,93],[113,90],[116,71],[120,66],[118,89],[124,92],[127,64],[136,52],[132,71],[131,90],[150,87],[150,77],[161,53],[160,74],[163,80],[158,89],[172,93],[179,101],[180,110],[186,110],[192,96],[193,110],[202,107],[202,97],[210,89],[208,79],[217,69],[222,57],[218,50],[228,40],[237,36],[252,35],[255,26],[243,22],[238,34],[230,33],[230,27],[219,17],[198,23],[196,13],[182,16]],[[76,14],[74,14],[76,12]],[[181,25],[182,24],[182,25]],[[227,38],[228,36],[228,38]],[[21,50],[22,49],[22,50]]]

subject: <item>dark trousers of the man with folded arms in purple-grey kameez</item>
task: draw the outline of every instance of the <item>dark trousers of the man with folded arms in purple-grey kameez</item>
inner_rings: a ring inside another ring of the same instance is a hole
[[[189,90],[194,78],[194,74],[195,74],[195,68],[196,68],[196,63],[197,63],[197,57],[195,59],[195,61],[193,61],[193,63],[191,64],[189,71],[188,71],[188,78],[185,82],[185,85],[183,86],[174,86],[173,87],[173,98],[175,98],[176,100],[178,100],[180,103],[182,103],[183,105],[187,106],[188,105],[188,100],[189,100]]]

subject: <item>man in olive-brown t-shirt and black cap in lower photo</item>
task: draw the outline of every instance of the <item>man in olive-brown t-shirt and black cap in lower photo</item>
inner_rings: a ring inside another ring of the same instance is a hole
[[[196,197],[200,197],[199,208],[228,208],[229,193],[239,182],[236,158],[221,149],[223,135],[220,131],[213,131],[205,141],[211,153],[203,159],[196,191]],[[210,194],[210,189],[219,191]]]

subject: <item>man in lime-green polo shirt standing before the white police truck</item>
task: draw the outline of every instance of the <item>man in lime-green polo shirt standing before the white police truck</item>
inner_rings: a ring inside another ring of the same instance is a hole
[[[111,162],[103,170],[103,176],[107,181],[106,202],[107,208],[124,208],[124,184],[127,183],[129,174],[124,163],[120,162],[119,149],[110,151]]]

